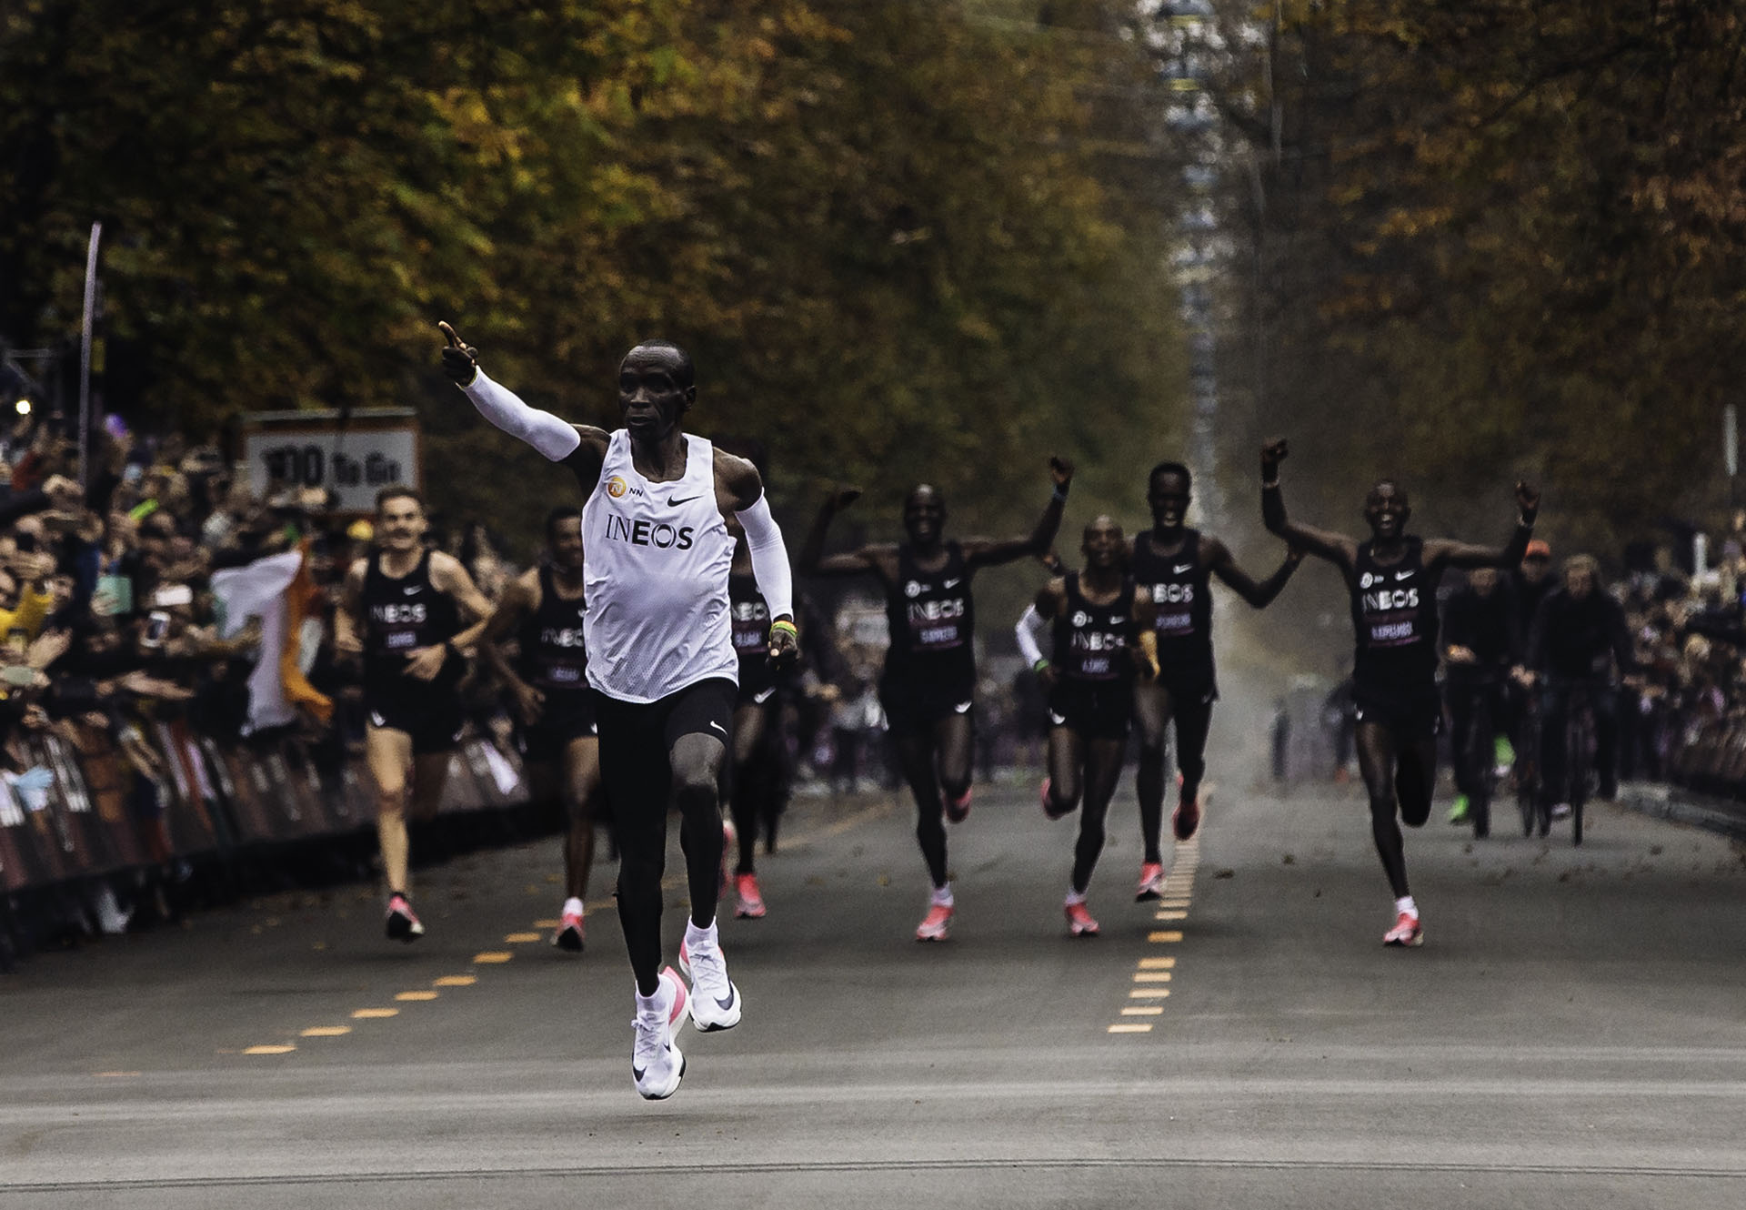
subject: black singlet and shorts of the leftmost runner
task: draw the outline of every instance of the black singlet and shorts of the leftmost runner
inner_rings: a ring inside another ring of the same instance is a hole
[[[461,737],[454,688],[464,663],[450,655],[430,681],[407,676],[407,653],[447,643],[461,632],[461,611],[431,583],[431,552],[400,580],[382,574],[382,552],[370,552],[363,574],[363,705],[370,723],[405,732],[414,753],[440,753]]]

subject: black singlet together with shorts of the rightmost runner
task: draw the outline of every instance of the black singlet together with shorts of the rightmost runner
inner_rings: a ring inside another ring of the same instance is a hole
[[[1400,562],[1381,566],[1360,543],[1353,566],[1351,630],[1357,658],[1351,697],[1360,723],[1406,730],[1442,725],[1437,695],[1437,585],[1425,571],[1425,541],[1402,538]]]

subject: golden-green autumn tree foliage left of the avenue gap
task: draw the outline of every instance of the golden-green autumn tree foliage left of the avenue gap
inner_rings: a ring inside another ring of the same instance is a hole
[[[1049,449],[1137,499],[1182,409],[1170,176],[1109,154],[1151,65],[1034,14],[17,0],[0,65],[0,337],[77,327],[101,218],[113,407],[412,403],[457,515],[533,529],[567,484],[433,374],[438,318],[592,421],[632,342],[686,344],[695,426],[765,443],[779,505],[1011,515]]]

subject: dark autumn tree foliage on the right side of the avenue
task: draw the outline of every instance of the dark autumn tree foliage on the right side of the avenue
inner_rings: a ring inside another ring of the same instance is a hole
[[[1348,513],[1379,473],[1446,522],[1540,475],[1566,550],[1720,508],[1722,409],[1746,403],[1746,12],[1220,12],[1250,35],[1210,82],[1241,168],[1250,438],[1290,431]]]

